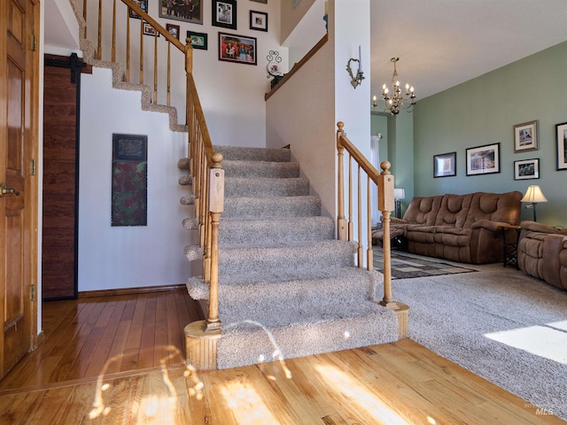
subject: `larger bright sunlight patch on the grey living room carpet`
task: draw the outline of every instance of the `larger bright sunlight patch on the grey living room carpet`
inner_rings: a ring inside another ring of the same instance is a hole
[[[567,365],[567,321],[485,334],[501,344]]]

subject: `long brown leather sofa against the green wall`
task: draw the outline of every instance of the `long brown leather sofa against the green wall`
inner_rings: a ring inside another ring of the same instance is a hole
[[[403,235],[409,252],[462,263],[501,261],[502,228],[520,222],[522,194],[474,192],[466,195],[414,197],[403,219],[392,218],[392,235]],[[377,230],[380,241],[384,233]]]

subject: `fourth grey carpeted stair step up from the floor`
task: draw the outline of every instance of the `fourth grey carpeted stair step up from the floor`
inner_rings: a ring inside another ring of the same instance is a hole
[[[329,240],[334,235],[335,223],[330,217],[294,217],[276,222],[221,219],[219,244],[274,246]]]

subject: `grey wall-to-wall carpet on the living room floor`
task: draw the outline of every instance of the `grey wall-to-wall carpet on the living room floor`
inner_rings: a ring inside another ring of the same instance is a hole
[[[567,291],[493,264],[397,279],[392,293],[410,306],[411,339],[567,420]]]

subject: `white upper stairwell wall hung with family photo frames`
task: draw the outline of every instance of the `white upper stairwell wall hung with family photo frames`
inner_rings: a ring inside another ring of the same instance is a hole
[[[207,127],[214,144],[241,147],[265,147],[266,145],[266,106],[264,95],[269,91],[269,80],[266,66],[268,52],[278,50],[283,58],[283,72],[288,70],[288,50],[279,42],[280,0],[269,0],[268,4],[246,1],[237,2],[237,29],[213,27],[211,2],[203,4],[203,25],[174,19],[159,18],[160,1],[151,0],[148,4],[152,18],[158,20],[163,27],[174,24],[180,27],[180,40],[185,43],[187,31],[205,33],[208,39],[208,50],[193,50],[193,74],[198,94],[205,112]],[[89,1],[87,17],[89,19],[88,38],[97,42],[97,4]],[[126,16],[126,6],[117,2],[120,17]],[[250,11],[268,13],[268,32],[250,29]],[[111,22],[111,3],[103,2],[103,14],[106,22]],[[120,18],[120,22],[122,19]],[[129,19],[131,51],[131,81],[137,82],[139,69],[139,19]],[[124,25],[118,25],[116,56],[117,61],[126,63]],[[257,39],[257,65],[230,63],[219,60],[219,32],[254,37]],[[112,32],[102,35],[102,59],[111,60]],[[167,43],[164,37],[158,38],[159,49],[159,103],[166,103],[167,95]],[[144,83],[153,85],[153,50],[154,39],[144,36]],[[178,120],[184,123],[185,110],[185,71],[183,54],[172,48],[172,87],[171,103],[178,110]]]

